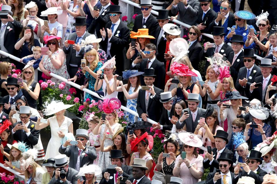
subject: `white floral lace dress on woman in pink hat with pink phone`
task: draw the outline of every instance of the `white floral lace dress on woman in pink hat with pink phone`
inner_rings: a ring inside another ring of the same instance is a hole
[[[72,2],[73,2],[73,1],[72,1]],[[53,57],[56,57],[56,56],[59,55],[60,52],[63,52],[63,50],[58,49],[57,51],[55,51],[55,52],[52,54],[52,56],[53,56]],[[63,53],[63,54],[64,54],[64,53]],[[61,66],[60,69],[56,69],[56,68],[53,66],[53,64],[52,64],[52,62],[51,62],[49,56],[47,56],[47,55],[44,55],[43,66],[44,66],[44,68],[45,68],[46,70],[48,70],[48,71],[50,71],[50,72],[52,72],[52,73],[55,73],[55,74],[57,74],[57,75],[59,75],[59,76],[65,78],[65,79],[69,79],[69,78],[70,78],[70,77],[69,77],[69,74],[68,74],[68,71],[67,71],[67,67],[66,67],[66,57],[65,57],[65,56],[64,56],[64,60],[63,60],[63,65]],[[55,87],[56,87],[56,88],[58,88],[58,87],[59,87],[59,84],[61,83],[61,81],[60,81],[59,79],[56,79],[56,78],[54,78],[54,77],[51,78],[51,81],[52,81],[52,82],[55,82]],[[65,85],[64,91],[65,91],[65,93],[69,93],[69,85],[68,85],[68,84]]]

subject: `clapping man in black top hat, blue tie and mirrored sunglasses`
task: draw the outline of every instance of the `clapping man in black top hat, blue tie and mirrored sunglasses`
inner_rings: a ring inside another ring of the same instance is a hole
[[[106,24],[105,30],[104,28],[100,30],[103,39],[100,45],[106,52],[108,59],[115,56],[115,60],[117,61],[115,64],[116,73],[122,75],[126,58],[125,47],[129,41],[130,30],[126,24],[120,20],[119,17],[121,12],[119,9],[119,5],[110,5],[108,14],[111,21]]]

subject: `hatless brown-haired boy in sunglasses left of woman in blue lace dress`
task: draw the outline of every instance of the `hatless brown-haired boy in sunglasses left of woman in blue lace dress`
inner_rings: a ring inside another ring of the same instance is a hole
[[[233,128],[233,132],[231,135],[231,140],[229,141],[229,143],[226,145],[226,148],[228,148],[229,150],[233,151],[235,154],[235,147],[234,147],[234,134],[236,132],[242,132],[244,131],[246,124],[245,124],[245,120],[242,118],[237,118],[232,122],[232,128]]]

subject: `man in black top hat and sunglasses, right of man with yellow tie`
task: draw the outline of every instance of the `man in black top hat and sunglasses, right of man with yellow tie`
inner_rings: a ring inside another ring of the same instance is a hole
[[[262,170],[259,165],[262,164],[261,160],[262,153],[257,150],[251,150],[249,157],[246,158],[245,163],[238,164],[235,169],[235,178],[232,183],[237,183],[239,178],[248,176],[255,179],[255,184],[262,184],[263,177],[267,174],[266,171]],[[239,173],[239,169],[242,167],[242,172]]]

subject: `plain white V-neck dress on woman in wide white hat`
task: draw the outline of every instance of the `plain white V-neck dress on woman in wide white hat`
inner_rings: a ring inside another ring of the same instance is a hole
[[[45,159],[48,158],[54,158],[57,155],[60,155],[59,153],[59,147],[61,146],[62,137],[59,137],[59,134],[57,133],[59,130],[61,130],[63,133],[68,133],[68,127],[70,124],[72,124],[72,120],[68,117],[64,118],[63,123],[59,127],[59,124],[57,122],[57,116],[49,117],[48,118],[50,122],[50,128],[51,128],[51,139],[48,142]]]

